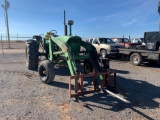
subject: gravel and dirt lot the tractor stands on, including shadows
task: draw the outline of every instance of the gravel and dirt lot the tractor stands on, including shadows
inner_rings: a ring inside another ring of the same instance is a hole
[[[117,72],[118,95],[88,93],[78,100],[68,96],[68,68],[56,68],[47,85],[25,65],[25,43],[0,42],[0,120],[147,120],[160,119],[160,64],[133,66],[110,60]],[[87,83],[84,90],[89,89]]]

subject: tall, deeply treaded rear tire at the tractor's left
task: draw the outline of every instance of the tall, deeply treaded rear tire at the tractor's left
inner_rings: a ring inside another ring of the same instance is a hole
[[[38,49],[39,45],[34,40],[26,42],[26,65],[29,70],[38,68]]]

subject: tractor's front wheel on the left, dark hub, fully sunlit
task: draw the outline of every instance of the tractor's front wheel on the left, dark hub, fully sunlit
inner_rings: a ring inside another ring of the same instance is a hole
[[[50,60],[44,60],[38,68],[40,80],[46,84],[50,84],[55,77],[54,65]]]

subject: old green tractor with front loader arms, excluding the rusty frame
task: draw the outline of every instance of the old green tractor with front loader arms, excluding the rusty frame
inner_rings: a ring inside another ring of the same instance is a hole
[[[40,80],[46,84],[54,80],[56,64],[66,65],[71,75],[82,72],[77,67],[80,63],[83,63],[85,73],[103,72],[109,68],[109,60],[100,58],[93,45],[83,41],[79,36],[72,36],[72,20],[68,21],[68,25],[69,35],[58,36],[53,30],[44,38],[35,35],[33,39],[26,41],[26,65],[29,70],[38,69]],[[40,60],[42,56],[44,60]]]

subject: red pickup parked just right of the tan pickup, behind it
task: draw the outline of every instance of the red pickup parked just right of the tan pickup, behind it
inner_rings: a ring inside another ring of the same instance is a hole
[[[128,38],[111,38],[111,39],[113,40],[113,42],[124,45],[127,48],[131,44],[131,41]]]

